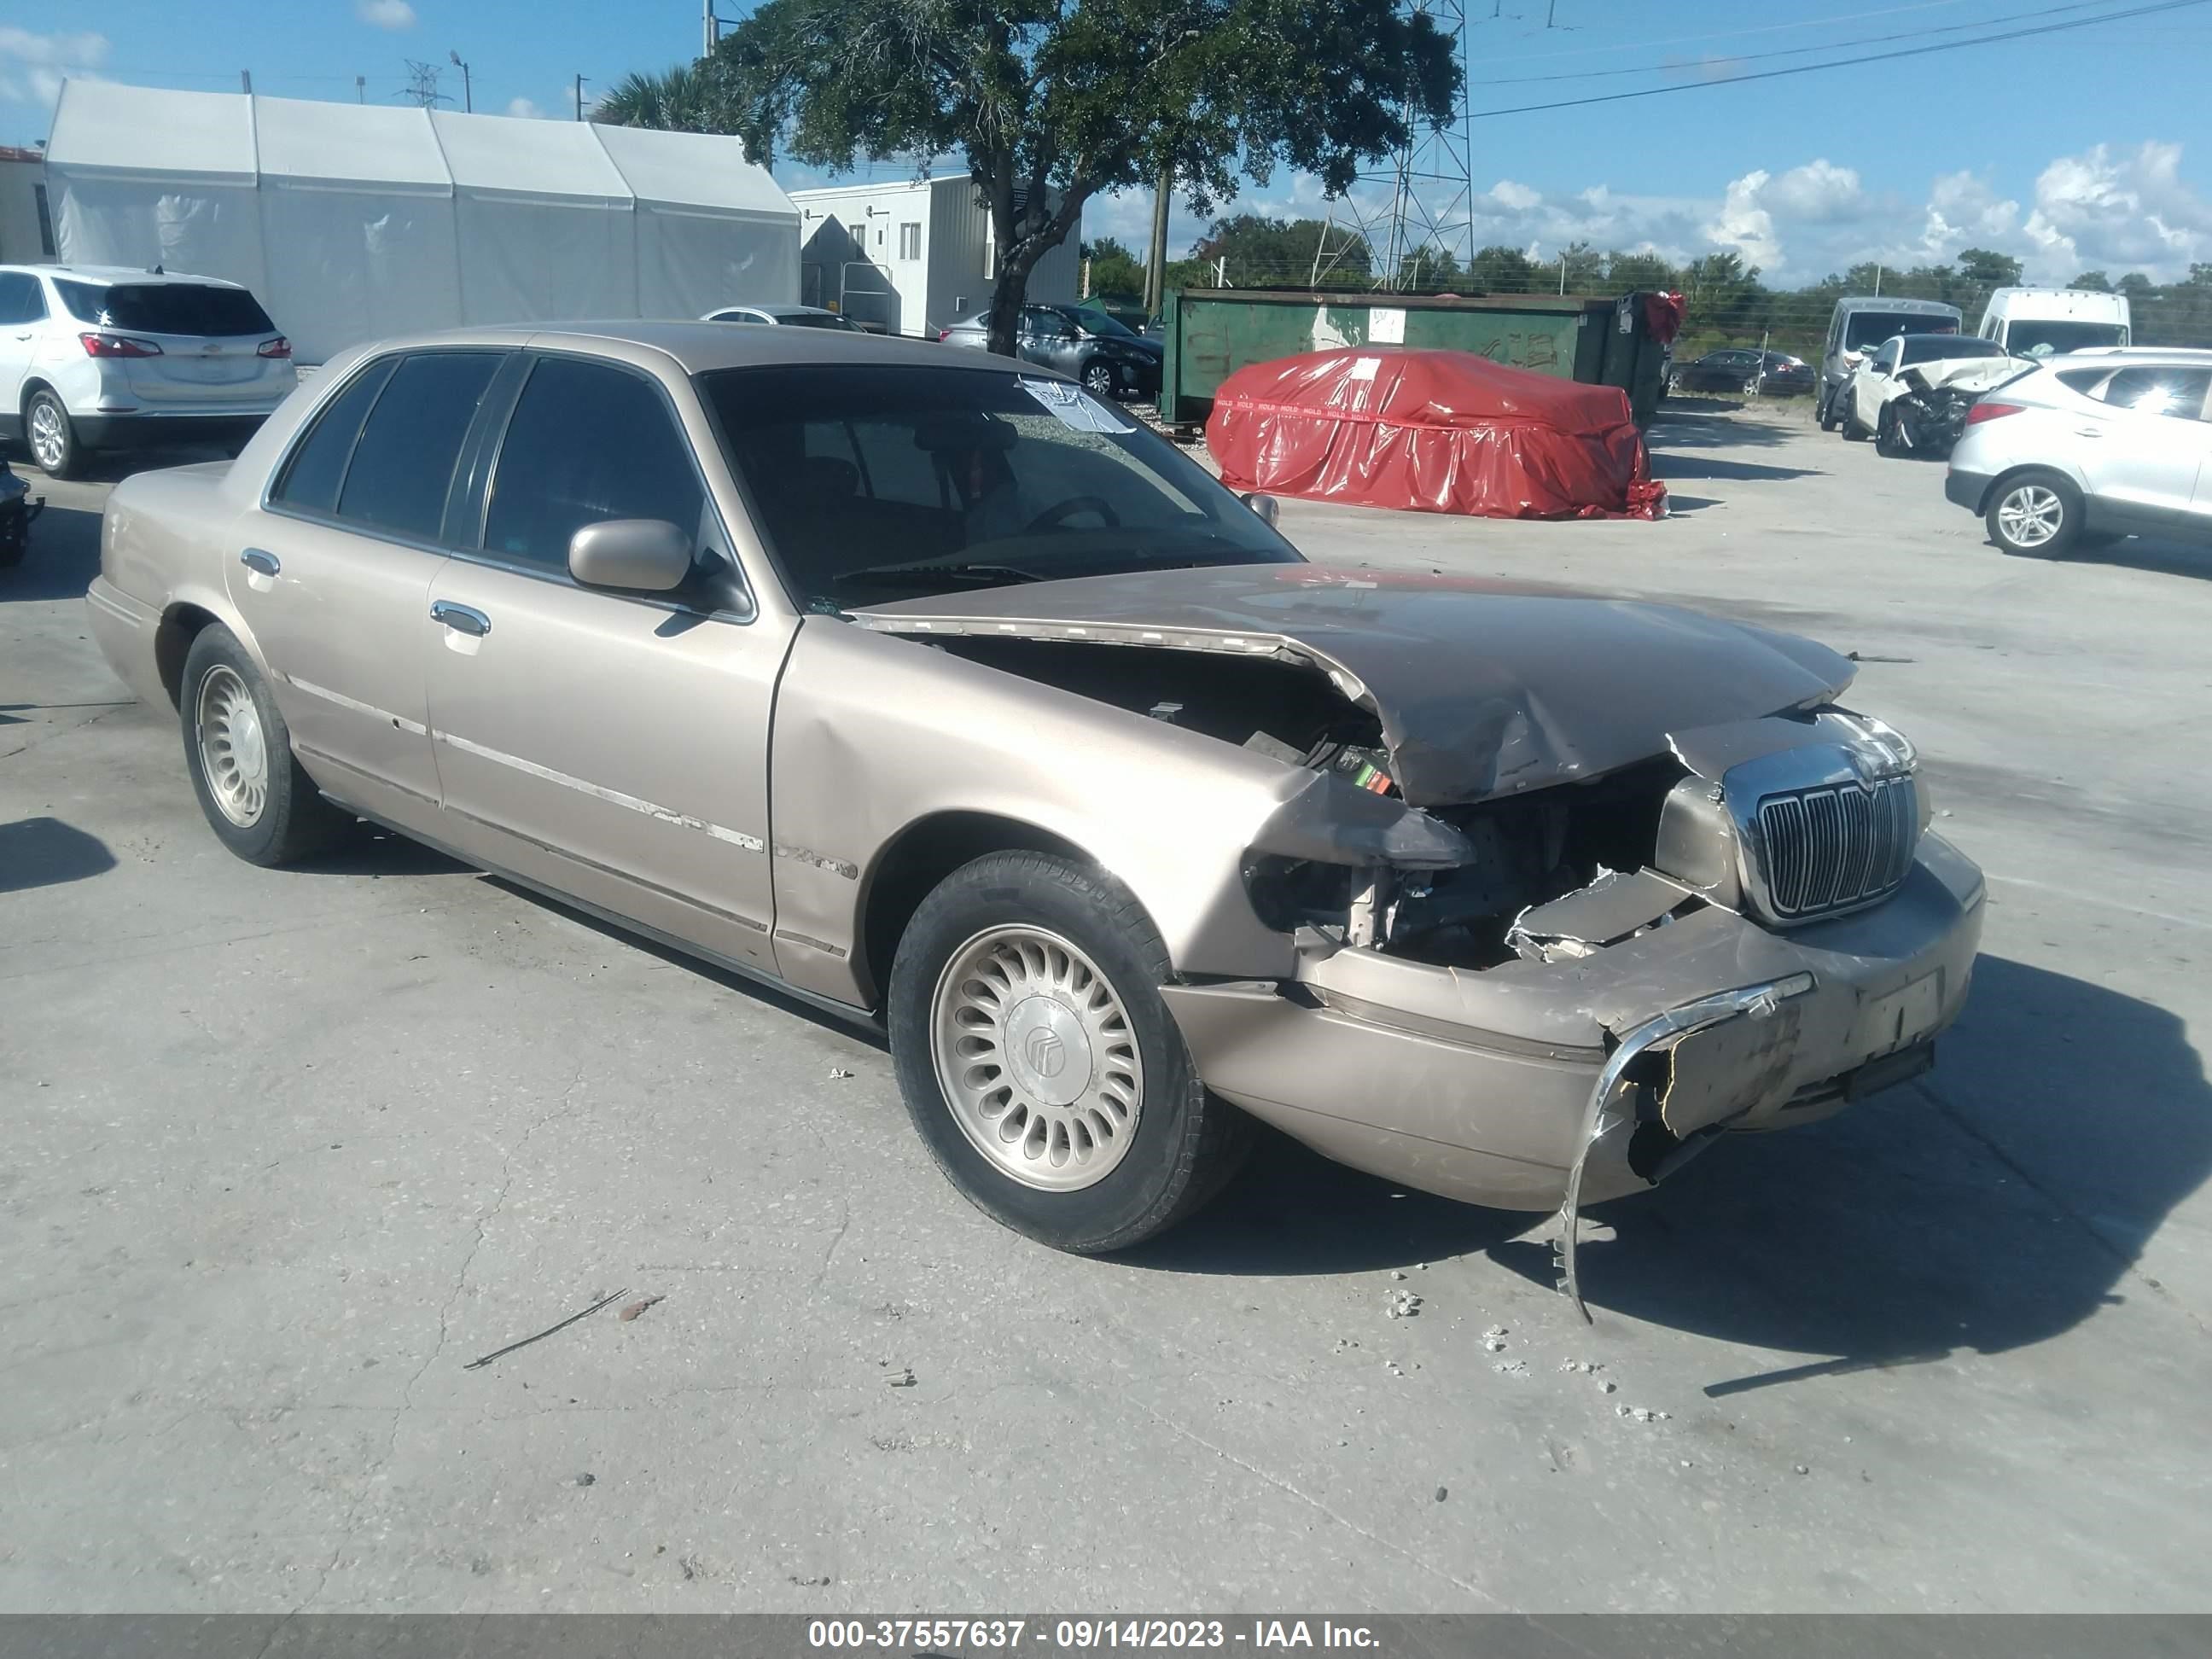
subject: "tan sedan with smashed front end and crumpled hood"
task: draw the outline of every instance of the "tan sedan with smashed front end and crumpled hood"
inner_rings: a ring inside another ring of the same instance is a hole
[[[372,818],[883,1022],[953,1183],[1064,1250],[1254,1117],[1573,1214],[1922,1071],[1980,933],[1836,653],[1307,564],[982,352],[374,345],[119,484],[88,604],[241,856]]]

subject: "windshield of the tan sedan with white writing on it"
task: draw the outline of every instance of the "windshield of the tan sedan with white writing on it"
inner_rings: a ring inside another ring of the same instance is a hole
[[[1301,562],[1166,438],[1066,380],[807,363],[719,369],[699,387],[810,611]]]

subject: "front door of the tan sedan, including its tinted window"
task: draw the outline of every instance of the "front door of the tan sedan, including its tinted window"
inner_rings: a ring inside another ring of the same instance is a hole
[[[480,544],[438,571],[418,617],[453,845],[772,967],[768,723],[790,628],[757,617],[737,573],[695,456],[710,427],[679,376],[555,352],[524,374]],[[568,540],[611,518],[695,535],[697,584],[577,584]]]

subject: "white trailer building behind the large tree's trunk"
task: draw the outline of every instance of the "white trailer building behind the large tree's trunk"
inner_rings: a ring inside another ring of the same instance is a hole
[[[967,175],[792,190],[801,215],[799,299],[883,334],[936,338],[991,303],[991,212]],[[1029,299],[1079,296],[1082,221],[1029,274]]]

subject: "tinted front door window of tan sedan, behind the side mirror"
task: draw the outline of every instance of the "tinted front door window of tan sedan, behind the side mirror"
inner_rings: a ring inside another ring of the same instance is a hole
[[[703,507],[690,442],[650,380],[549,356],[531,369],[500,440],[484,551],[566,571],[568,538],[586,524],[664,518],[699,535]]]

